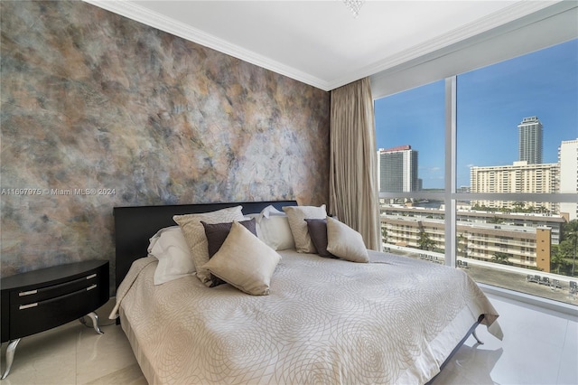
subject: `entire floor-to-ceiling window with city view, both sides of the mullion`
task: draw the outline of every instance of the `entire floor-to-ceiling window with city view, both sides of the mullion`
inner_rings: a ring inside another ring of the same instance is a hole
[[[578,40],[375,109],[384,249],[578,304]]]

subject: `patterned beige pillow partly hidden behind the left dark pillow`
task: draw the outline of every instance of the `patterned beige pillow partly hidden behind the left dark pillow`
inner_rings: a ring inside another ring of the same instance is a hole
[[[243,221],[242,206],[229,207],[218,211],[203,212],[200,214],[175,215],[172,220],[177,222],[182,229],[182,235],[191,249],[192,262],[197,271],[200,282],[206,286],[212,285],[210,271],[202,266],[209,261],[209,246],[205,228],[200,221],[206,223],[222,223]]]

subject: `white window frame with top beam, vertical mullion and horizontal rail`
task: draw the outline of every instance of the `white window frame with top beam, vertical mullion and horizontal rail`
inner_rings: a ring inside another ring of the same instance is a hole
[[[578,4],[556,2],[544,9],[520,17],[484,33],[471,36],[443,49],[424,54],[381,70],[370,76],[374,99],[381,99],[407,89],[420,87],[433,81],[445,80],[446,89],[455,88],[457,75],[507,61],[517,56],[542,50],[578,38]],[[456,169],[456,112],[455,92],[446,92],[445,108],[445,182],[443,192],[378,192],[380,199],[412,198],[430,199],[445,203],[446,251],[445,264],[456,266],[457,258],[457,208],[461,200],[501,200],[553,203],[575,202],[573,193],[472,193],[456,191],[453,176]],[[453,99],[452,99],[453,98]],[[448,117],[450,116],[450,117]],[[453,219],[453,220],[452,220]],[[450,239],[450,243],[447,243]],[[449,246],[448,246],[449,245]],[[455,256],[452,258],[452,255]],[[478,284],[485,292],[505,296],[543,308],[575,314],[576,305],[568,305],[540,296],[508,290],[498,286]]]

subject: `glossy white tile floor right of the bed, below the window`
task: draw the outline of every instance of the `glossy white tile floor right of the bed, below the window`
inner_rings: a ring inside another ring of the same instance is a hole
[[[488,295],[504,332],[499,341],[478,326],[433,385],[578,384],[578,313],[567,315]]]

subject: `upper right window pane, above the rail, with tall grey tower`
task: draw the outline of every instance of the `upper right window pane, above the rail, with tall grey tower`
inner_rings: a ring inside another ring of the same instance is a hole
[[[577,86],[578,40],[458,76],[458,191],[577,192]]]

